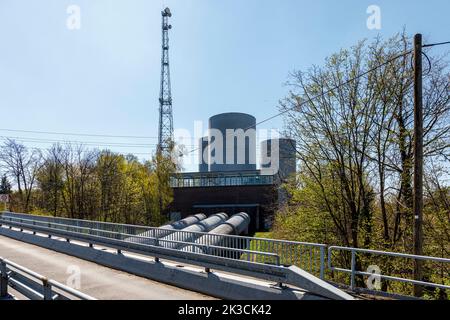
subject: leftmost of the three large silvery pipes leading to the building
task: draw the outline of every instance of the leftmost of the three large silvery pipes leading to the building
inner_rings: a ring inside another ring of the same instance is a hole
[[[198,213],[193,216],[189,216],[187,218],[175,221],[171,224],[166,224],[158,229],[152,229],[149,231],[145,231],[143,233],[138,234],[139,237],[129,237],[126,238],[125,241],[135,242],[135,243],[143,243],[143,244],[152,244],[154,241],[152,239],[145,239],[140,237],[149,237],[149,238],[162,238],[168,236],[169,234],[175,232],[176,230],[181,230],[186,227],[189,227],[193,224],[199,223],[200,221],[206,219],[206,215],[203,213]]]

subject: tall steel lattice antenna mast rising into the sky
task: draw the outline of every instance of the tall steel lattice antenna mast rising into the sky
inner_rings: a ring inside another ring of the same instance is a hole
[[[169,18],[172,13],[169,8],[161,12],[162,15],[162,57],[161,57],[161,91],[159,94],[159,134],[158,153],[170,157],[173,148],[173,115],[172,92],[170,88],[169,69]]]

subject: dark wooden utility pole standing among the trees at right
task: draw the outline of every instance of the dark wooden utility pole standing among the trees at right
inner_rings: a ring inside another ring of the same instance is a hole
[[[414,254],[423,254],[423,102],[422,35],[414,36]],[[422,280],[422,261],[414,259],[414,280]],[[414,295],[422,296],[423,287],[414,285]]]

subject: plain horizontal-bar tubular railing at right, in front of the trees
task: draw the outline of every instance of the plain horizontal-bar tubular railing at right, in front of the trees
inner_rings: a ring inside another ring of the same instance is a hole
[[[350,255],[351,255],[350,269],[333,266],[333,251],[350,252]],[[380,256],[384,256],[384,257],[396,257],[396,258],[406,258],[406,259],[413,259],[413,260],[422,260],[422,261],[428,261],[428,262],[432,261],[432,262],[439,262],[439,263],[450,263],[450,259],[447,259],[447,258],[419,256],[419,255],[413,255],[413,254],[407,254],[407,253],[398,253],[398,252],[389,252],[389,251],[380,251],[380,250],[371,250],[371,249],[330,246],[328,248],[328,269],[330,271],[339,271],[339,272],[349,273],[351,290],[356,289],[356,276],[357,275],[366,276],[366,277],[370,277],[370,276],[374,275],[374,273],[371,273],[371,272],[357,270],[356,260],[358,258],[358,253],[365,253],[365,254],[370,254],[370,255],[380,255]],[[397,282],[409,283],[409,284],[413,284],[413,285],[422,285],[425,287],[450,289],[450,285],[445,285],[445,284],[439,284],[439,283],[433,283],[433,282],[427,282],[427,281],[418,281],[418,280],[396,277],[396,276],[389,276],[389,275],[384,275],[382,273],[377,274],[376,276],[379,277],[379,279],[385,279],[385,280],[389,280],[389,281],[397,281]],[[447,274],[447,277],[448,277],[447,280],[450,281],[449,274]],[[444,280],[444,279],[442,279],[442,280]]]

